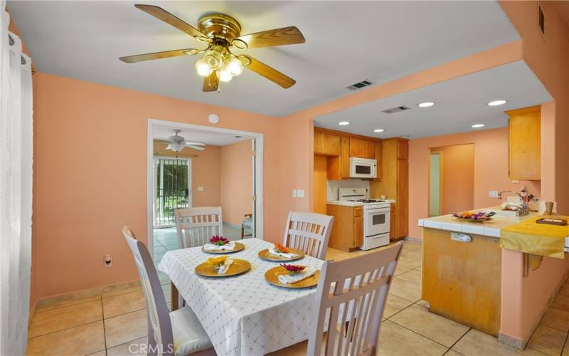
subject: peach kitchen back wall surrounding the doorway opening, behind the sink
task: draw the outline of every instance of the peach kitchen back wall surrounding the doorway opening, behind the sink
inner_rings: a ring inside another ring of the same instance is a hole
[[[428,217],[429,149],[474,144],[474,208],[501,204],[489,197],[490,190],[519,190],[522,185],[540,195],[539,181],[514,184],[508,177],[508,128],[479,130],[409,141],[409,236],[420,238],[418,220]],[[443,158],[444,160],[444,158]],[[446,164],[443,161],[443,164]]]

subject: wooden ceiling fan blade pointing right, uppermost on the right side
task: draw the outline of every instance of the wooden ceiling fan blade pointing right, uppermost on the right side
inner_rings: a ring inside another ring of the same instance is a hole
[[[247,43],[247,48],[259,48],[304,43],[306,39],[298,28],[288,26],[239,36],[234,38],[232,42],[233,46],[243,49],[245,48],[243,42]]]

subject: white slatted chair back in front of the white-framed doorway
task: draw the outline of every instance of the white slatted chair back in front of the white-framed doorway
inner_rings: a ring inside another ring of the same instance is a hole
[[[175,209],[180,248],[203,246],[211,236],[223,235],[221,206]]]

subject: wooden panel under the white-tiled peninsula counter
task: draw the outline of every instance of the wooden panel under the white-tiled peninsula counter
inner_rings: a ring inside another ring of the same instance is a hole
[[[489,335],[498,335],[501,301],[499,240],[451,231],[422,229],[422,299],[429,310]]]

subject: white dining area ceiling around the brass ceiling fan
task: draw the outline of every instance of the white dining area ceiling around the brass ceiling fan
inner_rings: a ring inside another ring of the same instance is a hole
[[[199,47],[132,1],[8,1],[36,69],[267,115],[287,115],[375,83],[519,38],[496,1],[142,1],[196,25],[208,11],[243,33],[296,25],[307,43],[250,55],[297,80],[285,90],[248,70],[222,93],[202,93],[197,58],[127,64],[120,56]]]

